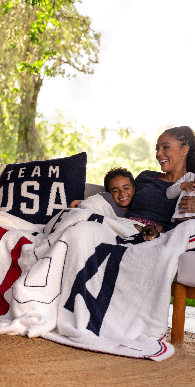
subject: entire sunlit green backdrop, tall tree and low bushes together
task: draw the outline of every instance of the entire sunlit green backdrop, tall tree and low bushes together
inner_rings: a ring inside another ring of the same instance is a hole
[[[133,130],[96,131],[66,122],[56,111],[50,124],[37,112],[45,78],[70,77],[70,70],[93,74],[100,34],[79,14],[75,0],[0,0],[0,162],[21,163],[87,152],[87,182],[103,184],[110,168],[122,166],[136,177],[160,170],[155,142]],[[72,74],[72,73],[71,73]],[[51,96],[51,98],[55,98]],[[144,132],[143,132],[144,133]],[[158,135],[158,134],[157,134]],[[156,137],[157,137],[156,135]]]

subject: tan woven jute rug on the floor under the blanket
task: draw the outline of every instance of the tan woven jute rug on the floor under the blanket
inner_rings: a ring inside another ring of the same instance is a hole
[[[195,334],[185,332],[184,344],[159,363],[83,351],[39,337],[0,336],[0,387],[55,386],[194,387]]]

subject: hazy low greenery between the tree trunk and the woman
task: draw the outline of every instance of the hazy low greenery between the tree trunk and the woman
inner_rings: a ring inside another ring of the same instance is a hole
[[[77,127],[71,122],[62,123],[62,113],[56,112],[56,124],[40,121],[36,124],[39,133],[39,159],[71,156],[87,152],[88,183],[103,184],[103,178],[110,168],[122,166],[132,171],[136,177],[149,169],[160,171],[155,158],[155,144],[137,137],[131,128],[97,128],[90,130]],[[158,134],[157,134],[158,135]]]

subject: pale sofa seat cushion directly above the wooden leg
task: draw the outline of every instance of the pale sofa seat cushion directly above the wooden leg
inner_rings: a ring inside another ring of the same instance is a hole
[[[180,255],[177,281],[180,284],[195,287],[195,251]]]

